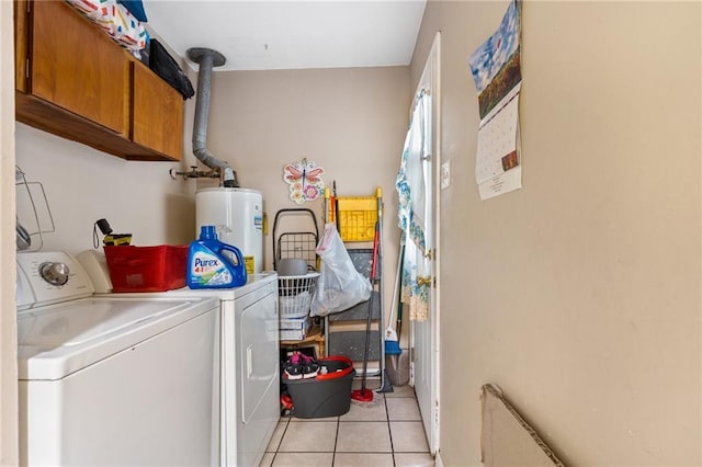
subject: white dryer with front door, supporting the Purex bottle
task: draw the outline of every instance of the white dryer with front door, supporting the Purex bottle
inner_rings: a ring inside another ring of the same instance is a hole
[[[95,252],[90,257],[82,258],[93,264],[88,265],[91,274],[104,275],[103,259]],[[220,465],[258,466],[280,420],[278,274],[249,274],[245,285],[234,288],[183,287],[104,296],[213,297],[219,301]]]

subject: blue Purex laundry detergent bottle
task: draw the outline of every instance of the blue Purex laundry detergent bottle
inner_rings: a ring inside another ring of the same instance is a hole
[[[215,226],[202,226],[200,239],[190,243],[188,286],[228,288],[246,284],[246,264],[238,248],[217,240]]]

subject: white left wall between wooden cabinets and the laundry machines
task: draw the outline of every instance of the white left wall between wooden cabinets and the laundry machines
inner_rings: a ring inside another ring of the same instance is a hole
[[[115,234],[131,232],[136,246],[186,244],[194,238],[195,182],[171,179],[169,169],[181,170],[177,162],[126,161],[18,124],[16,163],[27,181],[44,185],[48,198],[56,229],[43,236],[45,250],[93,248],[100,218]]]

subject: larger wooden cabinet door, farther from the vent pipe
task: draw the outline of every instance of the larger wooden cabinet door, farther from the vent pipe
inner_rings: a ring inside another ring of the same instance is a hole
[[[64,1],[32,15],[30,92],[128,137],[127,53]]]

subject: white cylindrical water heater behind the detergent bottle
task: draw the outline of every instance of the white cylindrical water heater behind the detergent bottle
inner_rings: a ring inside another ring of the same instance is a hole
[[[237,247],[248,274],[263,270],[263,196],[248,189],[202,189],[195,193],[195,236],[215,226],[219,241]]]

